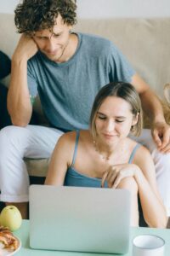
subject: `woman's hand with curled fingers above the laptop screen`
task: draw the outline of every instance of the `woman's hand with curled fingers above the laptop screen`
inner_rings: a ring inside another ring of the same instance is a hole
[[[109,188],[116,189],[124,177],[134,177],[138,171],[139,167],[133,164],[111,166],[102,177],[101,187],[103,188],[107,181]]]

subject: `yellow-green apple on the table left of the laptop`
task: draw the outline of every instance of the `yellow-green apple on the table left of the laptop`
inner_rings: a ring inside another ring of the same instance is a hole
[[[22,217],[17,207],[4,207],[0,215],[0,224],[8,227],[9,230],[14,231],[20,228]]]

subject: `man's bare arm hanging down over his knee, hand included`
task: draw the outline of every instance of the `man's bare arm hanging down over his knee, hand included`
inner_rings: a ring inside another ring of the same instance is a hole
[[[157,148],[162,153],[170,152],[170,126],[167,125],[164,118],[161,102],[156,94],[150,90],[148,84],[139,77],[138,74],[133,75],[132,84],[139,92],[144,112],[149,116],[152,125],[152,137]]]

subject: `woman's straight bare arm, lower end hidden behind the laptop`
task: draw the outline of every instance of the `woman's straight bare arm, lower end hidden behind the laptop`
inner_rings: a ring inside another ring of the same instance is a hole
[[[65,133],[59,138],[50,160],[45,184],[57,186],[64,184],[66,171],[71,166],[76,138],[75,134],[74,136],[71,134],[72,132]]]

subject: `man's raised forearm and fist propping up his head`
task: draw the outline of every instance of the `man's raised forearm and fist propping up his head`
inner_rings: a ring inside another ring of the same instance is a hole
[[[32,106],[27,84],[27,61],[37,52],[37,44],[22,35],[12,57],[8,90],[8,113],[13,125],[26,126],[31,119]]]

